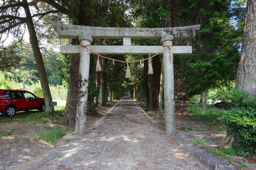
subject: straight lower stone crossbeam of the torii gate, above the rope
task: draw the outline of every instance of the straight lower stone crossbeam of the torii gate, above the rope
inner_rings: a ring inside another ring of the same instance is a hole
[[[156,54],[165,49],[163,46],[113,46],[113,45],[92,45],[91,50],[102,55],[107,54]],[[174,55],[188,55],[192,53],[192,46],[173,46]],[[60,53],[74,54],[79,53],[79,45],[60,46]],[[92,52],[90,52],[92,54]],[[163,52],[161,52],[163,54]]]

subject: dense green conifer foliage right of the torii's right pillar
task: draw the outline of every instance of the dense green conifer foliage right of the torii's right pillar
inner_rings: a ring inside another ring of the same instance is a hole
[[[202,24],[196,39],[189,42],[193,47],[190,56],[180,56],[176,65],[184,84],[190,85],[189,95],[200,94],[210,88],[228,86],[235,80],[240,54],[242,29],[231,25],[234,15],[230,2],[180,1],[183,6],[179,16],[180,24]]]

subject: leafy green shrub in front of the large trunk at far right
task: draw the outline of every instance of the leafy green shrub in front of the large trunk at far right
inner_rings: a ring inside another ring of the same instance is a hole
[[[226,121],[223,126],[236,138],[235,153],[252,157],[256,152],[256,98],[240,89],[218,91],[210,97],[229,103],[230,109],[224,111],[218,120]]]

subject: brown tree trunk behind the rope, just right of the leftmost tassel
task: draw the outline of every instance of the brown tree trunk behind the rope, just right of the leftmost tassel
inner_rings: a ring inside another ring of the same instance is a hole
[[[103,59],[102,72],[101,72],[101,85],[100,85],[100,105],[106,106],[106,84],[107,84],[107,71],[106,60]]]

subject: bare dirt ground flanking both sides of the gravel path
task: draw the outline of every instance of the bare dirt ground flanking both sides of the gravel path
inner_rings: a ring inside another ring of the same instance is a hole
[[[98,107],[98,112],[104,114],[110,109],[115,103],[107,105],[107,107]],[[162,116],[157,116],[156,112],[150,112],[149,115],[158,121],[158,128],[164,131],[165,122],[162,120]],[[100,117],[87,116],[86,127],[91,127]],[[188,142],[194,142],[197,147],[205,149],[210,152],[210,149],[217,148],[224,139],[225,131],[220,129],[220,123],[211,125],[207,122],[198,121],[192,117],[178,116],[176,118],[177,135]],[[48,124],[37,124],[32,125],[30,128],[24,128],[22,125],[17,124],[17,133],[8,135],[7,137],[0,138],[0,170],[11,170],[18,168],[23,162],[30,162],[41,155],[49,152],[54,146],[48,143],[42,142],[39,139],[35,139],[37,132],[45,129],[44,127]],[[182,126],[189,126],[191,130],[181,130]],[[68,132],[72,133],[73,128],[68,128]],[[30,135],[28,135],[30,134]],[[32,137],[33,136],[33,137]],[[60,140],[57,146],[61,146],[65,141]],[[218,156],[223,158],[223,156]],[[256,164],[252,158],[246,158],[249,163]],[[227,159],[224,159],[229,162]],[[239,163],[232,162],[236,167]],[[249,168],[239,168],[240,170],[250,170]]]

